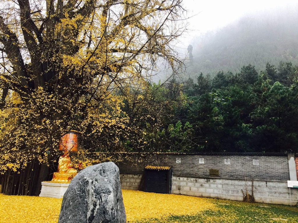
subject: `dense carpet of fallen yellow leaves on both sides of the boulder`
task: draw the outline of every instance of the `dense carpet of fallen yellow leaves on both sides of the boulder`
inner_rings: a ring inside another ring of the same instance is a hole
[[[211,199],[176,194],[155,194],[122,190],[127,220],[161,219],[170,215],[191,215],[214,209]],[[0,194],[0,222],[58,222],[62,199]]]

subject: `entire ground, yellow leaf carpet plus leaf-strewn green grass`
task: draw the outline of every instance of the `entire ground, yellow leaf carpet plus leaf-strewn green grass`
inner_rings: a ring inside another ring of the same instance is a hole
[[[127,223],[297,223],[297,207],[122,190]],[[0,223],[58,222],[62,199],[0,194]],[[78,222],[80,223],[80,222]]]

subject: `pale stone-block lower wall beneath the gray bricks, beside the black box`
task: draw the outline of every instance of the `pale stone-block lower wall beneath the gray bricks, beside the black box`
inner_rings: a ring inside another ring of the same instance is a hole
[[[120,174],[122,189],[137,190],[142,175]],[[138,180],[137,180],[138,179]],[[207,179],[173,176],[172,194],[184,194],[195,197],[209,197],[243,201],[246,194],[252,194],[252,180]],[[290,189],[286,181],[254,180],[254,198],[256,202],[290,205]],[[292,205],[298,202],[298,189],[291,188]]]

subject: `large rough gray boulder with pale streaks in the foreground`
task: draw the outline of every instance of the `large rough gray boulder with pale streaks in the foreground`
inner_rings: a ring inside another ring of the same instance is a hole
[[[113,162],[80,171],[66,190],[58,223],[125,223],[119,168]]]

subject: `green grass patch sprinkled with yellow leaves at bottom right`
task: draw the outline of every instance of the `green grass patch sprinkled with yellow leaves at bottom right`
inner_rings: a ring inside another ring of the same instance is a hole
[[[287,205],[271,205],[262,203],[245,203],[237,201],[216,200],[213,203],[217,210],[202,211],[196,215],[169,216],[163,219],[146,219],[138,223],[187,223],[187,222],[298,222],[298,208]],[[260,207],[260,206],[268,206]],[[183,207],[181,207],[183,208]]]

